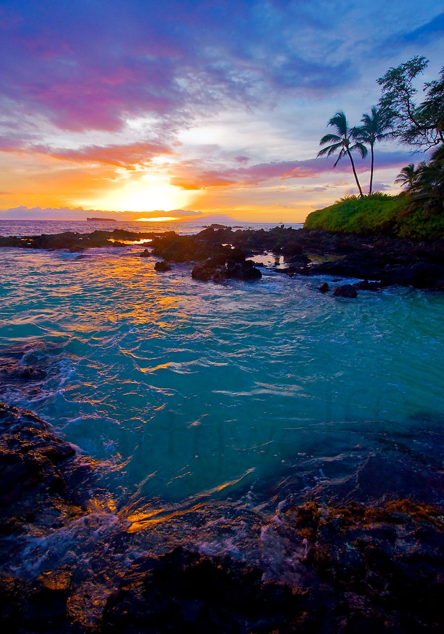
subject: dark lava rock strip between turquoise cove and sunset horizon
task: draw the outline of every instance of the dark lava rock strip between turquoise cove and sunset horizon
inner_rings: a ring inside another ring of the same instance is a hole
[[[282,259],[276,270],[289,276],[329,275],[354,278],[357,290],[389,286],[444,290],[444,242],[412,242],[391,236],[340,235],[323,230],[276,227],[235,230],[210,226],[197,235],[93,231],[41,236],[0,237],[0,247],[67,249],[81,253],[93,247],[126,247],[124,240],[148,239],[142,256],[162,258],[163,270],[172,264],[193,263],[192,275],[202,281],[256,280],[264,254]],[[158,262],[159,263],[159,262]],[[162,271],[162,266],[157,270]],[[370,281],[370,285],[368,282]]]

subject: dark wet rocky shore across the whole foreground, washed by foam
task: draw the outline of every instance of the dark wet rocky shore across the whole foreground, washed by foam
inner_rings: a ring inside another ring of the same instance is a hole
[[[436,434],[428,460],[421,448],[412,456],[397,444],[393,453],[386,439],[349,477],[320,481],[261,515],[268,554],[256,563],[180,543],[135,557],[134,543],[143,545],[151,529],[134,533],[115,515],[97,477],[105,465],[79,455],[41,418],[1,404],[3,625],[16,634],[442,631],[444,474]],[[67,534],[77,535],[76,552]],[[27,535],[48,547],[52,539],[60,552],[45,551],[46,565],[15,574]]]

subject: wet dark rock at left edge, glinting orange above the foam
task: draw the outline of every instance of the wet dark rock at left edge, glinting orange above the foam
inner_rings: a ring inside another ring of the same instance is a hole
[[[0,403],[0,534],[47,529],[82,515],[95,463],[32,412]]]

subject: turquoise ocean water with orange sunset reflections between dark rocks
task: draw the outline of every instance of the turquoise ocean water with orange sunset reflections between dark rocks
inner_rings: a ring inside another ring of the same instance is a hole
[[[93,230],[8,223],[3,235]],[[186,264],[156,273],[140,251],[0,249],[0,361],[36,370],[4,375],[0,400],[95,458],[113,500],[91,510],[94,531],[74,520],[21,536],[6,571],[86,557],[123,524],[137,536],[128,560],[182,543],[283,575],[263,533],[279,509],[353,477],[381,443],[441,451],[443,294],[336,299],[317,290],[332,280],[289,278],[269,254],[259,281],[205,283]]]

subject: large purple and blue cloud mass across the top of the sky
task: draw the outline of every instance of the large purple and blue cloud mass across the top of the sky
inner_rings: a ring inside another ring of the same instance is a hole
[[[229,103],[325,94],[355,75],[351,58],[328,55],[334,24],[305,2],[4,0],[0,11],[3,112],[64,130],[118,131],[148,112],[171,129]]]

